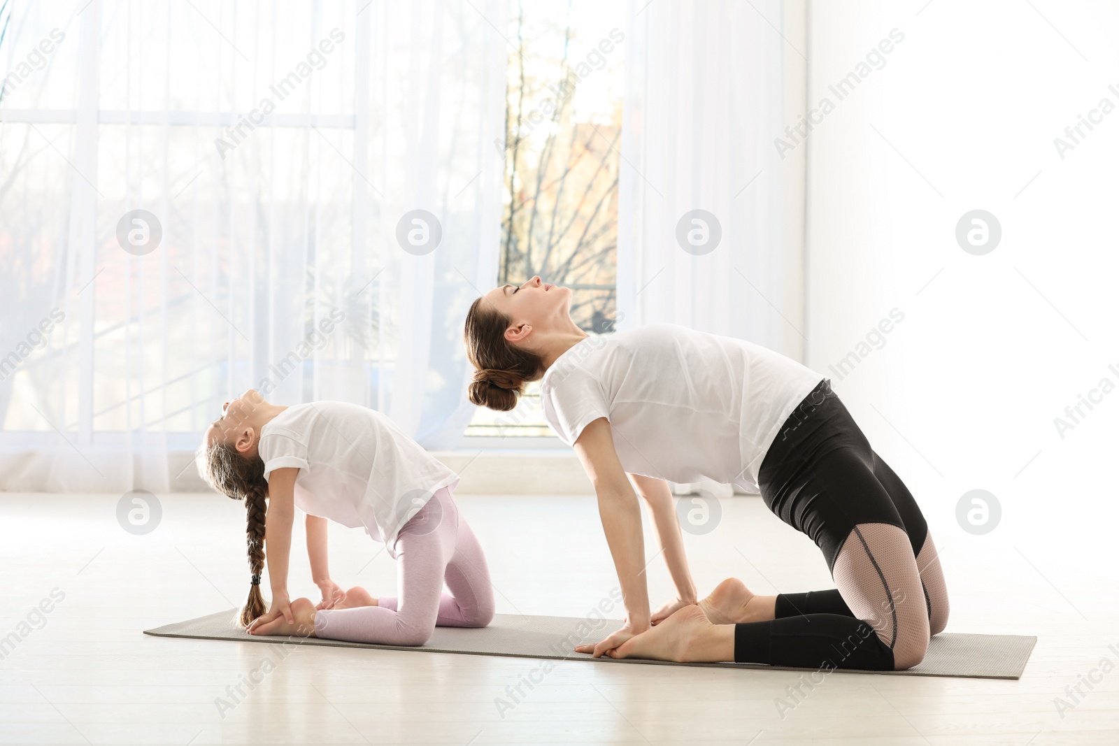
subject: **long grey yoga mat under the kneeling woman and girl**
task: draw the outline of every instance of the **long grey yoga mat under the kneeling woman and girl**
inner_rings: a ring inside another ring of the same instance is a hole
[[[815,671],[787,665],[763,663],[670,663],[643,659],[592,658],[574,652],[583,642],[598,642],[621,627],[618,620],[577,618],[570,616],[523,616],[498,614],[489,626],[463,629],[438,626],[425,644],[408,648],[374,645],[364,642],[345,642],[320,638],[257,636],[247,634],[234,623],[235,610],[209,616],[167,624],[144,634],[161,638],[200,638],[204,640],[234,640],[238,642],[298,643],[329,645],[331,648],[370,648],[374,650],[408,650],[429,653],[467,653],[473,655],[511,655],[517,658],[554,658],[610,663],[652,663],[658,665],[706,665],[739,669],[772,669],[783,671]],[[859,671],[844,669],[836,661],[836,670],[847,673],[884,673],[887,676],[952,676],[978,679],[1018,679],[1037,638],[1017,634],[958,634],[941,632],[929,642],[924,660],[906,671]],[[841,659],[841,653],[836,654]],[[834,659],[835,660],[835,659]],[[828,665],[830,668],[830,664]]]

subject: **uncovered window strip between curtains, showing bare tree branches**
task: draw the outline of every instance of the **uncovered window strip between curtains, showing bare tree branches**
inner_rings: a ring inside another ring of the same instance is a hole
[[[622,3],[520,1],[510,10],[504,215],[496,284],[534,275],[572,289],[572,317],[606,333],[615,315]],[[468,436],[549,436],[539,384],[513,412],[479,407]]]

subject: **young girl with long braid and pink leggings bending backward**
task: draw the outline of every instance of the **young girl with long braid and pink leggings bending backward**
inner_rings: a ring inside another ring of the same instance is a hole
[[[252,583],[239,618],[250,633],[422,645],[436,625],[493,618],[486,557],[451,497],[458,476],[384,415],[344,402],[276,406],[250,389],[226,403],[199,455],[210,485],[245,501]],[[295,507],[307,513],[317,605],[288,595]],[[397,560],[398,598],[344,593],[330,579],[327,519],[384,541]],[[269,611],[260,591],[265,546]]]

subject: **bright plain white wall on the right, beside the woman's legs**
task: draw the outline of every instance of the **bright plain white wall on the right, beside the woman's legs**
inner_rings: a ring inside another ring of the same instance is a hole
[[[828,85],[894,28],[904,39],[885,66],[840,101]],[[809,4],[809,105],[835,110],[807,140],[807,363],[947,551],[985,542],[1055,588],[1119,573],[1119,390],[1063,438],[1054,425],[1101,379],[1119,385],[1119,111],[1064,159],[1054,147],[1101,98],[1119,106],[1116,38],[1116,3]],[[976,208],[1003,229],[982,256],[955,238]],[[904,320],[881,349],[846,376],[829,369],[894,308]],[[979,537],[955,516],[975,488],[1004,511]]]

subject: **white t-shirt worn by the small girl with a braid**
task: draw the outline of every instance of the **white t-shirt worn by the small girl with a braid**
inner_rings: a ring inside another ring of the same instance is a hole
[[[389,548],[440,488],[458,475],[396,423],[347,402],[290,406],[261,428],[264,479],[294,466],[295,506],[367,533]]]

